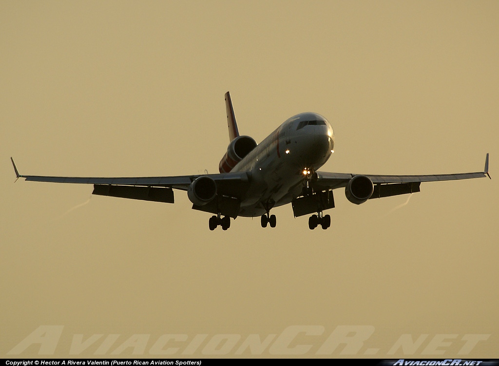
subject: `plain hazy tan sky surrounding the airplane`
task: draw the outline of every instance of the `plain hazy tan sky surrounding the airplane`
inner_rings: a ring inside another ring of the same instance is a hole
[[[78,334],[103,335],[80,357],[111,334],[106,357],[151,357],[169,334],[187,335],[172,357],[241,335],[237,357],[292,326],[324,328],[292,341],[303,357],[337,326],[374,327],[356,357],[423,357],[434,338],[432,357],[454,357],[466,335],[490,335],[467,357],[498,357],[498,19],[498,1],[0,1],[0,357],[40,326],[64,326],[57,357]],[[257,142],[296,113],[328,118],[321,170],[481,171],[489,152],[493,179],[423,183],[396,211],[407,196],[336,190],[326,231],[290,205],[275,229],[210,232],[182,191],[171,205],[14,184],[10,156],[32,175],[218,172],[228,90]],[[389,355],[404,334],[428,337]]]

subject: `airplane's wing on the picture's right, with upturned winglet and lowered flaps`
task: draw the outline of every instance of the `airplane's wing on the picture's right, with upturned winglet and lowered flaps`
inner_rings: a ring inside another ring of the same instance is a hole
[[[316,172],[316,180],[312,184],[315,190],[321,191],[341,188],[346,187],[348,182],[358,175],[363,175],[373,182],[374,192],[370,198],[419,192],[421,182],[491,177],[489,175],[489,154],[487,154],[483,172],[432,175],[371,175]]]

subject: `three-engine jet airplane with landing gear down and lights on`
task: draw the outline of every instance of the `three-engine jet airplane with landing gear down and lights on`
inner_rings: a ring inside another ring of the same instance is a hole
[[[260,216],[261,227],[276,226],[274,207],[291,203],[294,217],[312,214],[310,230],[327,229],[334,208],[333,190],[344,188],[357,205],[373,198],[420,192],[422,182],[490,177],[489,154],[482,172],[436,175],[371,175],[321,172],[334,152],[329,121],[312,112],[287,119],[259,144],[240,135],[231,94],[225,94],[229,147],[219,164],[219,174],[169,177],[82,178],[21,175],[26,181],[93,184],[94,195],[174,203],[174,189],[187,191],[192,208],[214,214],[209,229],[227,230],[231,218]],[[16,179],[17,180],[17,179]]]

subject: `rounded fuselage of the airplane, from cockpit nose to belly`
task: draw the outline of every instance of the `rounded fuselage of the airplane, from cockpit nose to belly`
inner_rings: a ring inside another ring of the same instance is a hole
[[[301,113],[287,119],[232,169],[250,172],[251,177],[240,216],[260,216],[291,202],[333,148],[333,129],[320,114]]]

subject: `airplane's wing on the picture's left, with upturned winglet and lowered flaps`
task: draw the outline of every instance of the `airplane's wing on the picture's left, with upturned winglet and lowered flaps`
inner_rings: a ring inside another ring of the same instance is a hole
[[[210,177],[217,184],[220,195],[240,199],[249,186],[249,175],[242,173],[180,175],[170,177],[52,177],[19,174],[14,159],[10,158],[17,178],[33,182],[93,184],[92,194],[131,198],[146,201],[174,203],[173,190],[186,191],[200,176]]]

